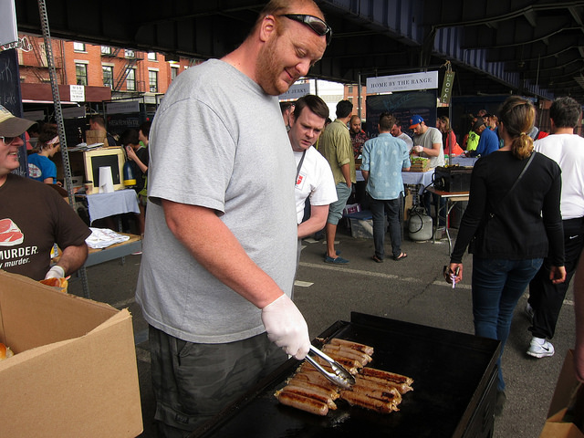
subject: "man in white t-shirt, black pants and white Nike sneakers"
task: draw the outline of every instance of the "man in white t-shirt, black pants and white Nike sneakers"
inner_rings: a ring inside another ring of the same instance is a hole
[[[553,356],[552,339],[569,281],[576,271],[584,248],[584,139],[574,133],[582,114],[572,98],[558,98],[549,108],[552,135],[535,142],[535,150],[558,163],[562,170],[560,209],[564,227],[566,281],[554,285],[549,279],[549,260],[529,283],[527,312],[533,315],[533,334],[527,354],[535,358]]]

